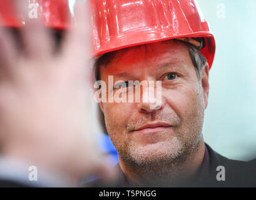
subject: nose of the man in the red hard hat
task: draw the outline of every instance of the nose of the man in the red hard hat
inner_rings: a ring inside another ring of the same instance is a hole
[[[141,96],[140,103],[138,103],[138,111],[141,113],[152,113],[163,108],[161,82],[146,81],[141,85],[143,89],[140,91]]]

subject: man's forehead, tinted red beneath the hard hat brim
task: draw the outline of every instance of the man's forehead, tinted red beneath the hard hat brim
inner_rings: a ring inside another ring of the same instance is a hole
[[[103,58],[100,73],[115,74],[142,68],[152,69],[165,63],[191,63],[187,44],[173,39],[115,51],[108,54],[108,58]]]

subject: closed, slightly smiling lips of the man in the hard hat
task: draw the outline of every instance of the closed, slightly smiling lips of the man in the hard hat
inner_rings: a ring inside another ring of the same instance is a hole
[[[140,134],[152,134],[152,133],[160,133],[161,131],[165,131],[166,129],[172,128],[171,124],[156,122],[145,124],[138,129],[133,130],[133,133],[140,133]]]

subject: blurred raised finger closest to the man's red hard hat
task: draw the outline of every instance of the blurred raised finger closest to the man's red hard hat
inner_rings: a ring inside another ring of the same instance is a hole
[[[86,61],[91,47],[89,2],[76,2],[71,31],[64,37],[62,46],[63,56],[76,61]],[[84,66],[83,66],[84,67]]]

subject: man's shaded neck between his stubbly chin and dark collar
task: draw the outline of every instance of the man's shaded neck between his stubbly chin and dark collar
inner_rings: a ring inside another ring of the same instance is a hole
[[[120,158],[120,168],[133,186],[177,186],[193,178],[200,168],[205,154],[205,144],[202,140],[193,151],[173,161],[150,166],[140,166],[126,163]]]

